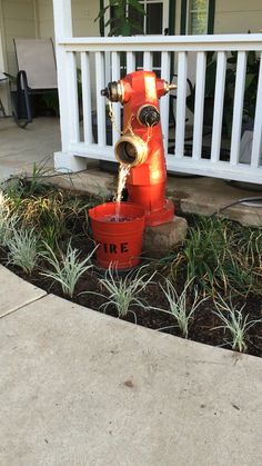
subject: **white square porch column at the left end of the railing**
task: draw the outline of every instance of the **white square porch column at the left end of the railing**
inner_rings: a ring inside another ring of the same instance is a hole
[[[67,39],[72,38],[71,0],[53,0],[53,21],[62,146],[62,151],[54,153],[54,168],[62,172],[80,171],[87,168],[87,159],[70,151],[71,143],[79,142],[75,56],[67,52],[63,44]]]

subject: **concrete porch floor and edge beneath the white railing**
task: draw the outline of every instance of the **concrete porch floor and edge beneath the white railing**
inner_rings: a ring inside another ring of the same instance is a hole
[[[27,130],[17,127],[12,118],[0,119],[1,153],[0,178],[9,178],[21,172],[32,172],[33,163],[44,165],[52,176],[50,181],[64,188],[90,191],[105,197],[115,191],[117,175],[102,171],[98,160],[89,159],[88,168],[82,173],[70,173],[53,177],[52,153],[60,150],[59,119],[36,118]],[[46,173],[47,175],[47,173]],[[182,214],[211,215],[225,206],[248,197],[262,197],[259,192],[248,191],[230,186],[222,179],[210,177],[178,177],[168,175],[168,196]],[[242,225],[261,226],[262,208],[235,205],[223,212]]]

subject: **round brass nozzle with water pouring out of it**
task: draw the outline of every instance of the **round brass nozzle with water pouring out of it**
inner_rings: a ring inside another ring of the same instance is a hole
[[[124,135],[115,143],[114,155],[120,163],[135,167],[145,161],[148,147],[138,136]]]

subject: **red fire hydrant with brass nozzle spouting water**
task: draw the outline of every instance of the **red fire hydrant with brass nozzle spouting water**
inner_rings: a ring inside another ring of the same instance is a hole
[[[123,105],[123,132],[115,158],[131,167],[127,179],[129,201],[145,210],[145,225],[171,221],[174,206],[165,199],[165,159],[160,125],[159,99],[173,85],[151,71],[134,71],[124,79],[109,82],[101,91],[112,102]]]

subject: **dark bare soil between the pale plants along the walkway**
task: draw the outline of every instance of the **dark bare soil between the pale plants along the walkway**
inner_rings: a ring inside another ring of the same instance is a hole
[[[82,250],[82,256],[85,257],[87,252],[90,251],[93,246],[90,240],[77,239],[73,244],[74,247]],[[8,256],[4,249],[0,250],[0,262],[11,269],[13,272],[19,275],[21,278],[30,281],[34,286],[44,289],[48,293],[52,293],[57,296],[60,296],[64,299],[69,299],[73,303],[77,303],[81,306],[93,309],[94,311],[103,311],[101,305],[105,303],[104,298],[94,294],[89,294],[88,291],[104,294],[104,290],[101,288],[99,279],[104,276],[103,271],[99,269],[93,269],[92,272],[85,272],[79,280],[74,297],[72,299],[67,298],[61,290],[61,287],[53,282],[52,280],[43,277],[40,272],[40,269],[37,270],[32,276],[24,274],[20,268],[8,265]],[[152,268],[153,270],[153,268]],[[163,327],[170,327],[165,330],[168,334],[182,337],[181,331],[175,325],[174,318],[169,316],[165,313],[160,310],[152,309],[152,307],[168,309],[168,303],[163,293],[161,291],[160,284],[163,281],[163,276],[159,272],[153,278],[153,282],[149,284],[148,287],[142,291],[140,298],[143,299],[147,308],[132,307],[132,311],[135,313],[137,324],[151,328],[160,329]],[[182,282],[181,282],[182,286]],[[192,303],[193,297],[189,296],[189,308],[190,301]],[[262,317],[262,297],[249,295],[248,298],[238,296],[236,301],[238,308],[244,306],[244,315],[249,315],[249,319],[256,320]],[[230,345],[230,335],[224,333],[223,329],[214,329],[214,327],[220,326],[221,321],[213,314],[214,304],[212,298],[206,299],[196,309],[194,317],[191,320],[189,327],[189,339],[194,341],[204,343],[212,346],[220,346],[223,348],[232,349]],[[107,307],[107,314],[113,317],[118,317],[117,310],[113,305]],[[129,313],[123,320],[134,323],[134,315]],[[262,324],[256,324],[252,327],[246,334],[246,353],[250,355],[262,357]]]

